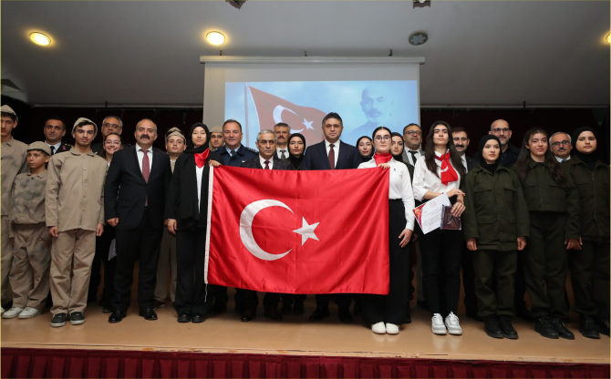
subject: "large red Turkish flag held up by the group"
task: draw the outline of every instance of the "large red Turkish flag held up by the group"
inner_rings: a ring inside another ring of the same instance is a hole
[[[211,168],[206,282],[388,294],[388,172]]]

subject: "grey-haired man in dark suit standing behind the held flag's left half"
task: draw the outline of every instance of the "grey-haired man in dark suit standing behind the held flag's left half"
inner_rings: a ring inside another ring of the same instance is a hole
[[[255,159],[247,160],[242,163],[243,168],[247,169],[291,169],[291,164],[287,160],[279,159],[276,156],[275,146],[277,139],[274,131],[261,130],[257,134],[256,147],[259,149],[259,155]],[[256,291],[241,290],[244,299],[244,309],[242,312],[242,322],[248,323],[254,319],[256,315],[256,306],[259,304]],[[263,300],[265,317],[274,321],[282,321],[282,314],[278,312],[278,302],[280,302],[280,293],[265,293]]]

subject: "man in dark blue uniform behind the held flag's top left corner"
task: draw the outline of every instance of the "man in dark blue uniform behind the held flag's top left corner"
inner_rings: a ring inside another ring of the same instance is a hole
[[[223,123],[223,139],[225,144],[212,152],[217,152],[221,155],[223,158],[221,163],[223,163],[223,165],[241,167],[243,162],[255,159],[259,156],[256,150],[243,146],[242,138],[242,124],[230,118]],[[225,312],[227,309],[227,302],[229,301],[227,287],[216,285],[213,287],[212,292],[214,293],[214,304],[208,311],[208,314],[211,316]],[[242,295],[242,292],[237,291],[233,296],[235,300],[235,311],[240,313],[243,312],[244,308],[244,299]]]

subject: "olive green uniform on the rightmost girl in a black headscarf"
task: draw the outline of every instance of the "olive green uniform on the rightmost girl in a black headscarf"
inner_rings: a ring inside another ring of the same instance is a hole
[[[579,194],[583,245],[570,251],[569,267],[575,293],[574,311],[609,319],[609,166],[600,160],[594,170],[573,157],[561,165]]]

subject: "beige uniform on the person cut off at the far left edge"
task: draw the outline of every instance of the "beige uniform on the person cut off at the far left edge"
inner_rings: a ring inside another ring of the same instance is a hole
[[[8,290],[8,273],[13,265],[13,243],[8,240],[8,211],[11,209],[11,189],[18,174],[29,172],[27,145],[12,138],[2,144],[2,302]]]

